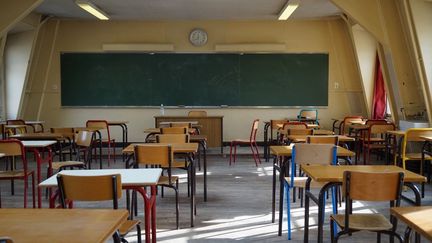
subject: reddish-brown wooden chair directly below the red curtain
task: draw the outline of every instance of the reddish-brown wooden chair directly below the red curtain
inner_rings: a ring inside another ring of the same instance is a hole
[[[368,164],[372,150],[385,150],[386,161],[389,154],[389,144],[387,144],[387,131],[394,131],[396,126],[393,123],[373,123],[368,130],[363,133],[361,138],[363,147],[363,163]]]

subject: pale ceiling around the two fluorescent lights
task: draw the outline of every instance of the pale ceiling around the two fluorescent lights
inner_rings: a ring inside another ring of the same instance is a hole
[[[276,20],[286,0],[90,0],[112,20]],[[74,0],[45,0],[35,12],[95,19]],[[290,18],[322,18],[341,11],[330,0],[301,0]]]

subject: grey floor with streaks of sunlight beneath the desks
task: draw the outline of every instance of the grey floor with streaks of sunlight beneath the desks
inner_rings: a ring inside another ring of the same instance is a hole
[[[272,164],[262,160],[262,164],[255,167],[248,148],[241,148],[245,155],[238,157],[238,162],[229,166],[229,154],[221,156],[218,150],[211,151],[208,156],[208,201],[203,201],[202,171],[197,171],[197,216],[195,227],[190,228],[190,206],[187,197],[186,174],[177,171],[180,175],[180,229],[175,230],[174,193],[165,190],[165,197],[157,198],[157,239],[158,242],[286,242],[287,224],[284,219],[283,235],[277,236],[277,223],[271,223],[271,181]],[[226,152],[229,152],[225,148]],[[32,160],[32,156],[29,157]],[[123,162],[111,164],[111,168],[122,168]],[[34,167],[34,162],[30,163]],[[106,166],[106,163],[104,163]],[[2,166],[0,164],[0,166]],[[16,194],[10,194],[10,183],[0,182],[2,206],[22,207],[22,182],[16,182]],[[431,186],[426,186],[426,197],[422,200],[424,205],[432,204]],[[405,192],[408,193],[408,192]],[[408,194],[409,195],[409,194]],[[142,201],[139,201],[142,203]],[[122,200],[120,207],[124,207]],[[139,204],[142,205],[142,204]],[[403,202],[402,205],[407,205]],[[110,207],[106,203],[76,203],[76,207]],[[43,200],[43,207],[48,207],[47,200]],[[388,203],[365,204],[355,203],[356,210],[362,212],[383,212],[388,215]],[[328,217],[330,207],[327,208],[326,224],[324,227],[325,242],[329,242]],[[292,204],[293,237],[291,242],[303,241],[304,210],[300,208],[299,201]],[[317,207],[312,204],[310,242],[316,240]],[[142,209],[138,218],[143,217]],[[399,224],[398,232],[403,233],[405,226]],[[0,230],[1,232],[1,230]],[[129,242],[136,240],[133,234],[127,238]],[[357,233],[351,237],[344,237],[340,242],[375,242],[373,233]],[[388,237],[383,236],[383,242]],[[425,240],[423,242],[426,242]]]

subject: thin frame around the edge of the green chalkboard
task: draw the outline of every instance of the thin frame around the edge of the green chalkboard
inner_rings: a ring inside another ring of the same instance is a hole
[[[299,109],[299,108],[328,108],[329,104],[329,70],[330,70],[330,55],[329,52],[98,52],[98,51],[89,51],[89,52],[74,52],[74,51],[62,51],[62,54],[233,54],[233,55],[248,55],[248,54],[321,54],[327,55],[327,105],[276,105],[276,106],[254,106],[254,105],[164,105],[166,109]],[[61,63],[60,63],[61,66]],[[60,67],[61,69],[61,67]],[[62,83],[62,80],[60,80]],[[61,92],[60,92],[60,95]],[[62,101],[62,100],[61,100]],[[144,108],[144,109],[159,109],[160,105],[63,105],[61,102],[60,108],[65,109],[135,109],[135,108]]]

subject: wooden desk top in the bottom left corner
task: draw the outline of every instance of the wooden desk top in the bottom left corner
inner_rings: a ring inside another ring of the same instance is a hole
[[[0,209],[0,235],[23,243],[105,242],[128,215],[123,209]]]

